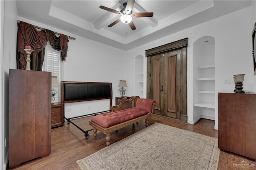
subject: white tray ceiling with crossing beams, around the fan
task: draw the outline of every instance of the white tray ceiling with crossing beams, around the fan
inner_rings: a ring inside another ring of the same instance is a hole
[[[153,12],[133,18],[136,30],[122,22],[108,28],[123,0],[16,0],[18,18],[26,18],[122,50],[132,49],[208,20],[246,8],[251,0],[136,0],[132,12]],[[30,7],[30,8],[28,8]],[[28,10],[29,9],[29,10]],[[53,30],[54,31],[54,30]]]

